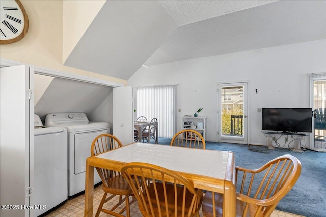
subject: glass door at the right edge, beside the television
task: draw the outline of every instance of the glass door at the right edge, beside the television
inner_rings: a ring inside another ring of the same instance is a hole
[[[326,79],[313,78],[311,82],[312,108],[315,111],[311,149],[326,151]]]

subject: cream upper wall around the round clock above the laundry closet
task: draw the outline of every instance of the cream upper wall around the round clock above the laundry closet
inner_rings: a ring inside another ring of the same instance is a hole
[[[18,42],[0,45],[1,58],[19,61],[28,65],[44,67],[46,69],[54,69],[61,72],[102,79],[104,81],[113,81],[123,85],[127,83],[127,81],[122,79],[76,69],[64,66],[62,64],[63,31],[65,31],[65,34],[68,34],[66,24],[71,21],[71,19],[80,17],[79,13],[82,13],[84,18],[79,21],[86,23],[80,24],[78,27],[84,29],[87,23],[94,18],[96,8],[99,9],[101,2],[96,1],[96,3],[94,3],[95,1],[52,0],[21,0],[20,2],[23,4],[26,12],[28,13],[30,23],[28,33]],[[67,10],[69,10],[69,8],[73,7],[75,4],[79,4],[79,6],[75,7],[75,10],[73,11],[70,10],[71,19],[67,20],[67,22],[65,21],[65,24],[63,24],[64,13],[66,17]],[[95,8],[92,8],[92,13],[89,14],[80,11],[89,4],[96,5]],[[64,5],[68,7],[65,9],[65,12],[63,8]],[[80,32],[76,33],[74,36],[71,36],[72,38],[69,40],[65,38],[65,43],[72,43],[71,45],[73,46],[74,43],[72,41],[75,39],[75,37],[78,37],[78,34],[80,34]],[[70,46],[67,48],[67,50],[65,50],[65,55],[67,55],[69,49]]]

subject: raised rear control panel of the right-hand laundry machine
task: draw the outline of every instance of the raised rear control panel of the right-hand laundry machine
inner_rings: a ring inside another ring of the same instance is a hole
[[[45,117],[45,125],[77,125],[88,123],[84,113],[51,113]]]

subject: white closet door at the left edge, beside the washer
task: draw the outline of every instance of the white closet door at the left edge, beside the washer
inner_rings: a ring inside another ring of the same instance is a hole
[[[2,207],[0,216],[33,214],[28,209],[34,181],[34,101],[29,99],[33,74],[25,65],[0,69],[0,204],[19,205]]]

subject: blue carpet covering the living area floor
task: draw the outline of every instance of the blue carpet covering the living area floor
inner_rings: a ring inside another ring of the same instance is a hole
[[[159,138],[158,141],[159,144],[170,145],[171,139]],[[301,175],[276,209],[306,217],[326,216],[326,153],[298,153],[284,149],[259,153],[249,151],[248,145],[220,142],[206,142],[206,149],[232,151],[235,154],[235,164],[249,169],[257,169],[283,154],[292,154],[301,161]]]

